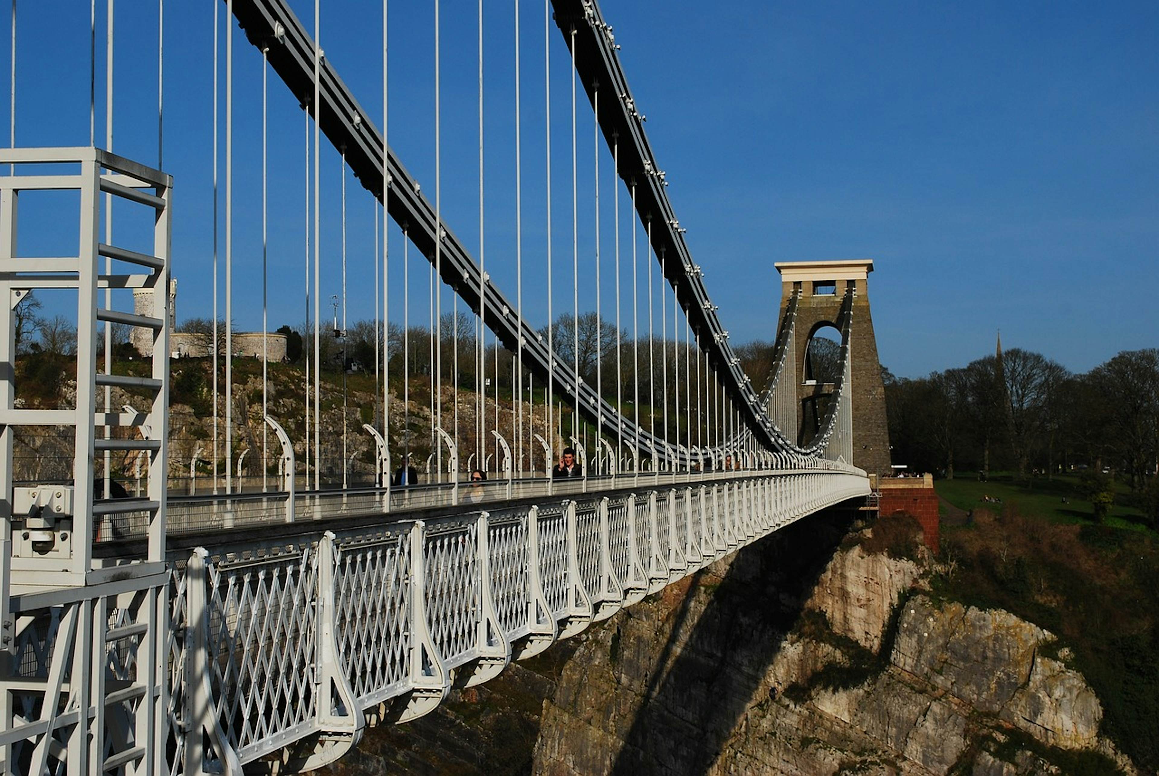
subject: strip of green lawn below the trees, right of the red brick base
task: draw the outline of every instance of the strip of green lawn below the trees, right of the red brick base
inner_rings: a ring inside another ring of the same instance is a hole
[[[1127,486],[1115,483],[1116,496],[1124,495]],[[954,479],[938,479],[934,490],[947,502],[960,510],[990,508],[1001,511],[1003,506],[1012,505],[1022,514],[1033,514],[1052,522],[1089,524],[1094,521],[1094,507],[1091,502],[1078,495],[1078,477],[1058,475],[1052,479],[1036,478],[1029,484],[1016,484],[1009,475],[994,475],[986,482],[979,482],[972,474],[958,475]],[[986,504],[983,496],[1001,499],[1001,504]],[[1063,499],[1066,499],[1066,503]],[[1134,507],[1115,504],[1110,510],[1107,525],[1113,528],[1150,532],[1145,527],[1143,513]]]

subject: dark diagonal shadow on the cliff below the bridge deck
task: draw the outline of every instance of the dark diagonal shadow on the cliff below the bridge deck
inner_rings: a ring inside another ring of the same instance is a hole
[[[705,572],[695,574],[672,614],[668,642],[612,774],[708,770],[852,519],[851,512],[830,511],[777,532],[741,550],[715,588]],[[690,603],[704,593],[712,599],[688,630]]]

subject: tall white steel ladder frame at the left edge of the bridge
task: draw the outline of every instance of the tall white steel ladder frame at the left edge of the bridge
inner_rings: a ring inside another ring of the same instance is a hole
[[[183,660],[174,659],[172,649],[165,564],[173,181],[94,147],[2,149],[0,164],[13,166],[13,175],[0,178],[0,293],[7,305],[0,315],[6,367],[0,378],[0,774],[167,773],[175,703],[194,697],[174,686],[174,667]],[[17,251],[17,204],[46,191],[76,196],[72,202],[79,208],[54,213],[61,225],[79,218],[75,255]],[[102,192],[108,195],[103,208]],[[151,252],[110,244],[108,234],[102,241],[101,217],[112,202],[119,203],[118,212],[137,210],[152,219]],[[102,257],[111,268],[104,272]],[[41,290],[75,303],[71,407],[24,409],[15,402],[14,308]],[[100,290],[107,291],[103,305]],[[146,294],[148,315],[110,303],[132,305],[125,293],[132,290],[152,292]],[[101,322],[148,332],[147,376],[100,369]],[[132,389],[147,409],[99,407],[102,387]],[[37,426],[72,429],[68,484],[14,488],[14,439]],[[97,438],[101,426],[114,433]],[[144,497],[95,492],[94,459],[104,451],[147,455]],[[94,558],[101,532],[130,530],[146,540],[138,555]]]

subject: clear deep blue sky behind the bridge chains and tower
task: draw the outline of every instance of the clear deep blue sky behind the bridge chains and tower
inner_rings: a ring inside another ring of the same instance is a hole
[[[313,7],[292,2],[313,29]],[[513,3],[484,0],[488,268],[513,300]],[[211,309],[212,0],[166,3],[165,168],[175,184],[178,316]],[[377,3],[322,3],[322,46],[381,116]],[[356,15],[351,7],[369,9]],[[544,6],[520,5],[524,307],[546,316]],[[221,98],[224,100],[225,3]],[[442,200],[472,249],[478,222],[476,6],[442,9]],[[734,342],[771,338],[773,263],[872,257],[881,359],[918,376],[1003,344],[1086,371],[1159,346],[1159,6],[1153,2],[735,2],[602,5],[669,195]],[[17,8],[16,144],[87,145],[88,3]],[[116,7],[114,149],[155,162],[156,3]],[[104,137],[104,15],[97,7],[96,136]],[[261,58],[234,30],[234,320],[261,325]],[[554,24],[553,312],[570,309],[569,59]],[[2,59],[8,61],[7,31]],[[391,3],[389,140],[433,197],[433,6]],[[304,119],[270,74],[270,322],[297,324],[304,293]],[[614,295],[612,166],[577,111],[581,308],[595,306],[595,155],[600,166],[602,297]],[[7,125],[8,101],[0,100]],[[220,107],[224,208],[224,102]],[[325,142],[325,139],[323,139]],[[326,147],[323,317],[341,294],[341,160]],[[621,189],[621,285],[630,221]],[[349,317],[374,314],[374,205],[348,182]],[[35,206],[21,250],[72,234]],[[219,261],[224,288],[224,210]],[[27,220],[27,224],[25,224]],[[39,227],[39,228],[38,228]],[[133,227],[117,227],[133,240]],[[391,317],[401,319],[402,237],[391,229]],[[641,279],[646,277],[642,237]],[[428,264],[410,256],[411,321],[428,315]],[[444,293],[444,309],[451,307]],[[584,301],[590,300],[590,301]],[[657,302],[658,305],[658,302]],[[224,301],[221,302],[224,309]],[[658,315],[658,310],[657,310]],[[630,330],[625,298],[621,322]],[[658,320],[656,327],[658,330]],[[641,321],[641,327],[647,323]]]

